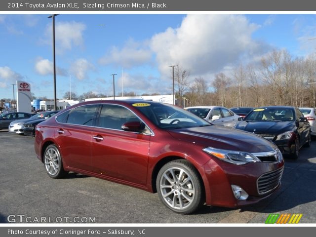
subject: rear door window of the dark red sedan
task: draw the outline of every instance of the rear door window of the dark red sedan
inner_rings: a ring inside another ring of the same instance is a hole
[[[98,105],[84,105],[77,107],[70,112],[67,118],[67,123],[93,126],[98,108]]]

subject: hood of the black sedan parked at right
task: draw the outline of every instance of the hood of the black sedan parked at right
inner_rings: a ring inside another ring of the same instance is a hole
[[[294,121],[241,121],[236,128],[248,132],[280,134],[295,127]]]

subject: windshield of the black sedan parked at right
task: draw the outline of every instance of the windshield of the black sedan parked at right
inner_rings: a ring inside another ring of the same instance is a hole
[[[253,110],[244,120],[248,121],[293,121],[295,119],[292,109],[259,108]]]

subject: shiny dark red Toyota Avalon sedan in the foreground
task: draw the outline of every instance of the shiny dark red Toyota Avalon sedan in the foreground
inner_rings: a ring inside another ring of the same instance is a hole
[[[280,186],[284,165],[264,138],[139,100],[69,107],[36,127],[35,151],[52,178],[74,171],[158,192],[182,214],[258,202]]]

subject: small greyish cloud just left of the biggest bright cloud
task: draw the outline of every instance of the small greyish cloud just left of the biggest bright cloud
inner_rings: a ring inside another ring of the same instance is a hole
[[[147,43],[140,44],[134,40],[128,40],[124,47],[112,47],[110,52],[100,58],[99,63],[102,65],[115,64],[124,68],[139,66],[151,61],[152,52]]]

